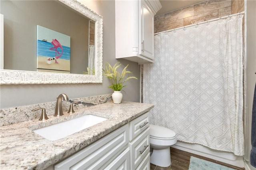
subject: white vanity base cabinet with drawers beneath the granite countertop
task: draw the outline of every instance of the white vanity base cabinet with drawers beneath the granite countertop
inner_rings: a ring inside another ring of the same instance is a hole
[[[62,160],[55,170],[150,170],[149,113]]]

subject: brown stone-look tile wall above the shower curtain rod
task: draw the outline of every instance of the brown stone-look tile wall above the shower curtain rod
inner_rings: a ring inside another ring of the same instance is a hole
[[[244,11],[244,0],[208,0],[155,16],[154,32],[212,20]]]

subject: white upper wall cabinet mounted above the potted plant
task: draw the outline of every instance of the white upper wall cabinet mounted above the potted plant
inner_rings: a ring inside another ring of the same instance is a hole
[[[116,59],[154,63],[154,15],[158,0],[116,0]]]

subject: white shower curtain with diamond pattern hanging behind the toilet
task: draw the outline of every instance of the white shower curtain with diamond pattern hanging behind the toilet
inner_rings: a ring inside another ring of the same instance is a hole
[[[151,124],[179,141],[244,155],[242,17],[154,36],[155,63],[143,68]]]

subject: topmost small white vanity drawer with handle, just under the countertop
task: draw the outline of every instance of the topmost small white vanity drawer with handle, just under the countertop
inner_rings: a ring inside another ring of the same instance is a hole
[[[140,135],[145,129],[149,127],[149,112],[140,117],[130,121],[129,141]]]

